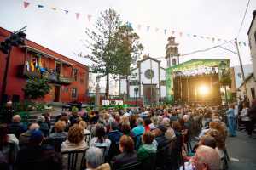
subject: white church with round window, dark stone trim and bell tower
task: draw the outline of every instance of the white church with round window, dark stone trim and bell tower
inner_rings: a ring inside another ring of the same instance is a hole
[[[167,67],[179,63],[178,44],[175,37],[169,37],[166,45]],[[129,98],[143,99],[144,104],[158,103],[166,99],[166,68],[160,60],[144,55],[131,70],[129,77],[120,77],[119,94]]]

